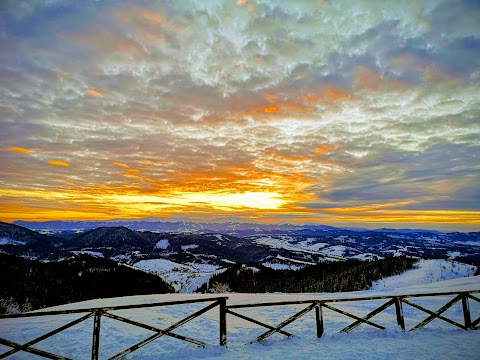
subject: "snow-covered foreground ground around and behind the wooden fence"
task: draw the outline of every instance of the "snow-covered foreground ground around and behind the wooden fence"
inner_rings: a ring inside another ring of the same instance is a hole
[[[402,284],[406,284],[403,282]],[[312,300],[327,298],[352,298],[373,295],[413,294],[428,292],[448,292],[480,290],[480,277],[466,277],[445,280],[428,285],[417,284],[409,288],[396,288],[392,291],[362,291],[336,294],[226,294],[228,304],[258,303],[269,301]],[[88,308],[124,304],[152,303],[158,301],[174,301],[183,299],[201,299],[211,295],[202,294],[170,294],[133,296],[115,299],[91,300],[77,304],[69,304],[55,309]],[[437,310],[448,302],[452,296],[426,297],[411,299],[422,306]],[[334,306],[358,316],[364,316],[385,300],[369,302],[336,303]],[[208,303],[174,305],[160,308],[143,308],[136,310],[112,311],[158,328],[166,328],[180,319],[201,309]],[[246,316],[272,325],[306,305],[258,307],[237,309]],[[470,301],[472,319],[480,316],[480,303]],[[218,346],[218,308],[214,308],[194,321],[177,330],[176,333],[190,336],[206,342],[205,349],[195,345],[161,337],[142,349],[132,353],[128,359],[478,359],[480,349],[480,331],[465,331],[453,327],[441,320],[434,320],[425,329],[414,332],[402,332],[395,322],[393,307],[375,316],[372,321],[385,326],[385,331],[367,325],[361,325],[351,333],[338,333],[344,326],[352,322],[345,316],[324,310],[325,335],[317,339],[315,335],[315,316],[310,312],[301,319],[291,323],[284,330],[294,334],[292,338],[274,335],[262,343],[250,343],[264,328],[238,319],[231,315],[227,318],[228,347]],[[410,306],[404,305],[407,328],[414,326],[427,315]],[[463,322],[461,302],[447,310],[444,315],[459,323]],[[79,315],[45,316],[37,318],[1,319],[1,337],[24,343],[40,336],[56,326],[79,318]],[[68,356],[73,359],[89,359],[91,349],[92,321],[84,321],[69,330],[47,339],[35,347]],[[113,356],[152,333],[116,320],[102,317],[100,358]],[[0,352],[9,348],[0,345]],[[9,359],[36,359],[35,355],[17,353]]]

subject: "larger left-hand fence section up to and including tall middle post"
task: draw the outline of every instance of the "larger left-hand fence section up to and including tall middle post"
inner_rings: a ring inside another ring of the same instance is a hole
[[[130,346],[129,348],[119,352],[118,354],[112,356],[109,358],[109,360],[117,360],[117,359],[123,359],[126,355],[132,353],[135,350],[140,349],[141,347],[151,343],[152,341],[166,335],[173,337],[175,339],[183,340],[192,344],[195,344],[200,347],[205,347],[205,343],[203,341],[193,339],[184,335],[176,334],[173,332],[173,330],[179,328],[180,326],[188,323],[189,321],[197,318],[198,316],[206,313],[207,311],[213,309],[216,306],[220,307],[220,345],[226,345],[226,334],[227,334],[227,329],[226,329],[226,297],[217,297],[217,298],[205,298],[205,299],[197,299],[197,300],[183,300],[183,301],[171,301],[171,302],[162,302],[162,303],[152,303],[152,304],[138,304],[138,305],[124,305],[124,306],[115,306],[115,307],[110,307],[110,308],[91,308],[91,309],[75,309],[75,310],[62,310],[62,311],[46,311],[46,312],[37,312],[37,313],[25,313],[25,314],[15,314],[15,315],[0,315],[0,318],[2,317],[8,317],[8,318],[15,318],[15,317],[32,317],[32,316],[49,316],[49,315],[65,315],[65,314],[74,314],[74,313],[85,313],[88,312],[88,314],[75,319],[65,325],[62,325],[55,330],[52,330],[42,336],[39,336],[33,340],[28,341],[27,343],[20,345],[18,343],[15,343],[10,340],[2,339],[0,338],[0,344],[6,345],[11,347],[12,349],[0,354],[0,359],[3,359],[7,356],[13,355],[19,351],[26,351],[32,354],[39,355],[41,357],[47,358],[47,359],[66,359],[70,360],[67,357],[56,355],[44,350],[40,350],[37,348],[34,348],[33,345],[51,337],[54,336],[74,325],[77,325],[93,316],[93,336],[92,336],[92,360],[95,359],[97,360],[99,357],[99,349],[100,349],[100,322],[101,322],[101,317],[105,316],[117,321],[121,321],[124,323],[127,323],[129,325],[137,326],[143,329],[150,330],[154,332],[153,335],[149,336],[148,338],[138,342],[137,344]],[[197,303],[197,302],[206,302],[206,301],[214,301],[212,304],[207,305],[206,307],[194,312],[193,314],[177,321],[175,324],[167,327],[166,329],[159,329],[157,327],[143,324],[141,322],[131,320],[116,314],[109,313],[108,311],[112,310],[126,310],[126,309],[134,309],[134,308],[144,308],[144,307],[157,307],[157,306],[166,306],[166,305],[179,305],[179,304],[187,304],[187,303]]]

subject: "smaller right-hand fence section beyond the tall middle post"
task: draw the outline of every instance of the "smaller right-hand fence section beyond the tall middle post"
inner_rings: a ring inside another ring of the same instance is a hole
[[[440,309],[437,311],[432,311],[429,310],[423,306],[420,306],[412,301],[407,300],[406,298],[408,297],[421,297],[421,296],[437,296],[437,295],[456,295],[452,300],[450,300],[447,304],[442,306]],[[378,308],[374,309],[367,315],[363,317],[356,316],[352,313],[349,313],[345,310],[341,310],[337,307],[334,307],[331,305],[331,303],[336,303],[336,302],[346,302],[346,301],[366,301],[366,300],[379,300],[379,299],[387,299],[388,301],[379,306]],[[434,319],[440,319],[443,321],[446,321],[447,323],[457,326],[461,329],[464,330],[478,330],[480,329],[479,323],[480,323],[480,317],[474,321],[471,320],[471,314],[470,314],[470,309],[469,309],[469,302],[468,299],[480,302],[480,299],[477,298],[476,296],[472,295],[469,292],[460,292],[460,293],[437,293],[437,294],[420,294],[420,295],[406,295],[406,296],[394,296],[394,297],[369,297],[369,298],[349,298],[349,299],[331,299],[331,300],[309,300],[309,301],[284,301],[284,302],[271,302],[271,303],[257,303],[257,304],[241,304],[241,305],[230,305],[227,307],[227,313],[236,317],[239,317],[241,319],[244,319],[246,321],[252,322],[254,324],[263,326],[268,329],[265,333],[261,334],[256,338],[255,341],[262,341],[268,338],[269,336],[279,333],[283,334],[285,336],[292,336],[290,332],[287,332],[284,330],[284,327],[286,327],[288,324],[291,324],[295,320],[299,319],[303,315],[307,314],[308,312],[312,311],[315,309],[315,322],[316,322],[316,333],[317,337],[322,337],[324,334],[324,319],[323,319],[323,309],[328,309],[334,312],[337,312],[339,314],[345,315],[347,317],[350,317],[355,320],[352,324],[346,326],[340,332],[345,332],[348,333],[358,327],[361,324],[366,324],[370,325],[372,327],[375,327],[380,330],[385,330],[385,327],[379,324],[376,324],[372,321],[370,321],[371,318],[373,318],[375,315],[380,314],[383,312],[385,309],[389,308],[390,306],[395,307],[395,314],[396,314],[396,320],[397,320],[397,325],[400,326],[400,328],[405,331],[405,318],[403,315],[403,304],[407,304],[409,306],[412,306],[418,310],[421,310],[425,313],[427,313],[429,316],[419,322],[417,325],[413,326],[409,331],[414,331],[420,328],[423,328],[427,324],[429,324],[432,320]],[[461,301],[462,302],[462,309],[463,309],[463,316],[464,316],[464,324],[459,324],[456,321],[453,321],[442,314],[451,308],[454,304],[457,302]],[[258,321],[256,319],[253,319],[251,317],[248,317],[246,315],[240,314],[236,311],[233,311],[232,309],[239,309],[239,308],[251,308],[251,307],[268,307],[268,306],[283,306],[283,305],[300,305],[300,304],[309,304],[306,308],[300,310],[299,312],[293,314],[289,318],[285,319],[282,321],[279,325],[273,326],[261,321]]]

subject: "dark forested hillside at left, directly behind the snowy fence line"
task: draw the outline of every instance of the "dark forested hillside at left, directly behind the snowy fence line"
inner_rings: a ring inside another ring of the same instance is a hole
[[[42,263],[0,253],[0,313],[96,298],[175,292],[158,276],[81,256]]]

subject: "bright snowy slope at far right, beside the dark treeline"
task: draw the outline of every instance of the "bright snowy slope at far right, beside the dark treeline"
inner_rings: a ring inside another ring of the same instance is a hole
[[[442,280],[473,276],[476,267],[447,260],[419,260],[415,268],[400,275],[391,276],[372,284],[372,290],[390,291],[412,286],[435,283]]]

